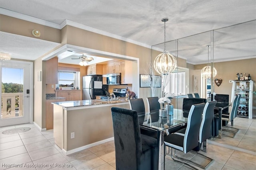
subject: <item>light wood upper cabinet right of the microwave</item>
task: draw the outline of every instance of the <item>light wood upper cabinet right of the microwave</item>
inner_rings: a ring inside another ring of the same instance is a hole
[[[132,61],[121,62],[121,84],[132,84]]]

